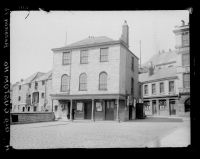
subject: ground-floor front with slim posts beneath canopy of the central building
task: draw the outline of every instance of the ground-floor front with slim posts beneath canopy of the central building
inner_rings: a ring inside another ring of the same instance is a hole
[[[51,97],[53,111],[59,119],[92,121],[125,121],[129,119],[130,110],[126,105],[125,95],[52,94]]]

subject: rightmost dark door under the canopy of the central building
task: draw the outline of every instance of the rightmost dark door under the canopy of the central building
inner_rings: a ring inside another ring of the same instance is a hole
[[[114,101],[105,101],[105,119],[114,120]]]

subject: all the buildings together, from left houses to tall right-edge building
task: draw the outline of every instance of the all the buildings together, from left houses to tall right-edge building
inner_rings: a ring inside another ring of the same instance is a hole
[[[71,120],[131,120],[142,99],[146,115],[184,113],[190,96],[189,26],[183,24],[174,33],[176,49],[160,52],[143,68],[129,50],[126,21],[119,40],[88,37],[54,48],[51,71],[12,85],[12,112],[53,111],[56,118]]]

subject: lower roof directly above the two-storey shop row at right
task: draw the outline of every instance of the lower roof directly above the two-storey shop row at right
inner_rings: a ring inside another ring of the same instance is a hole
[[[174,78],[174,77],[177,77],[176,67],[168,67],[168,68],[158,69],[151,76],[149,75],[148,72],[139,74],[139,82],[151,82],[154,80],[161,80],[164,78]]]

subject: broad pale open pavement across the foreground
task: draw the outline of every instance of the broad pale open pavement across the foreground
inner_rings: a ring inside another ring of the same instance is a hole
[[[11,125],[15,149],[186,147],[189,118],[152,118],[128,122],[53,121]]]

